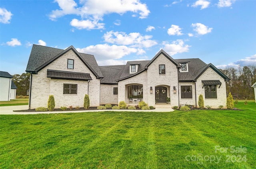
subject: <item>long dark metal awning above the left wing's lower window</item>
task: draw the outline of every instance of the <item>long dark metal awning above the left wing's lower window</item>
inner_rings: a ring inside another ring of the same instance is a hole
[[[50,77],[53,79],[68,79],[68,80],[79,80],[79,81],[92,80],[90,73],[56,71],[56,70],[49,70],[49,69],[47,69],[47,77]]]

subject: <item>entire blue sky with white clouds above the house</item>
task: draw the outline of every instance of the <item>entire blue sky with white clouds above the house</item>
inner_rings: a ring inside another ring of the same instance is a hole
[[[256,65],[255,0],[1,0],[0,70],[25,73],[32,44],[73,45],[98,65],[200,58]]]

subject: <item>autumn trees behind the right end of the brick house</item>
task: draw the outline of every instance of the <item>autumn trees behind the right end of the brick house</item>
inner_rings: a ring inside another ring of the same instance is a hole
[[[248,65],[238,69],[228,67],[221,70],[230,81],[226,83],[227,94],[231,92],[234,99],[254,100],[254,88],[252,85],[256,82],[256,65]]]

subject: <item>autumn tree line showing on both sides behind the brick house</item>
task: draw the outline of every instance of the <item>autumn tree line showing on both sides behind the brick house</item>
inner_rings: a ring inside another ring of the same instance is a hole
[[[228,67],[220,69],[230,81],[226,83],[227,95],[229,92],[234,99],[254,100],[254,89],[251,87],[256,82],[256,65]],[[12,76],[12,81],[17,86],[16,95],[26,96],[30,85],[30,73],[15,74]]]

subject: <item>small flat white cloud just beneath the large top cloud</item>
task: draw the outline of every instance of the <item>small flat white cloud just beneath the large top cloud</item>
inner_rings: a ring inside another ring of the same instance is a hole
[[[103,23],[99,23],[98,20],[77,20],[77,19],[73,19],[70,22],[71,26],[74,26],[78,29],[103,29],[104,28],[104,24]]]

